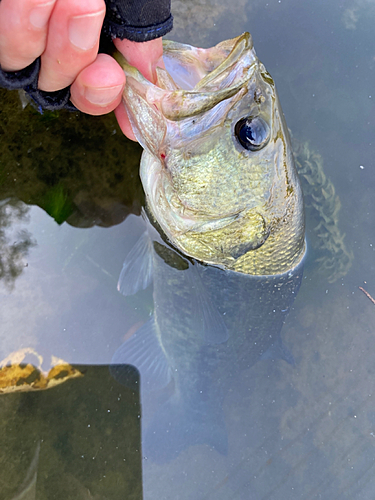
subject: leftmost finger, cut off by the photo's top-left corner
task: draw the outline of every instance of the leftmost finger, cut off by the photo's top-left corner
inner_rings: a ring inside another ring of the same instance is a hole
[[[0,65],[18,71],[39,57],[55,0],[0,1]]]

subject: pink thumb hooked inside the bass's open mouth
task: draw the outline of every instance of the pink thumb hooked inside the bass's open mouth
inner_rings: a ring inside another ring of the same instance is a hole
[[[114,44],[129,64],[137,68],[147,80],[156,82],[156,67],[164,68],[161,38],[149,42],[131,42],[116,38]]]

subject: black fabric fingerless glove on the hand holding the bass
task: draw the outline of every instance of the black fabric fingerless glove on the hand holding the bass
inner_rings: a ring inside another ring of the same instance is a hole
[[[1,0],[0,0],[1,1]],[[106,16],[103,32],[111,38],[126,38],[146,42],[164,36],[173,27],[171,0],[105,0]],[[57,92],[38,89],[40,58],[20,71],[6,72],[0,67],[0,87],[23,89],[41,111],[69,109],[77,111],[70,102],[70,87]]]

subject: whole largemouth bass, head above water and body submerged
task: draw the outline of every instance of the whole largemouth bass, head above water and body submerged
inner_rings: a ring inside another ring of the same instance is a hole
[[[239,374],[268,358],[293,363],[280,333],[305,252],[288,130],[250,35],[211,49],[165,42],[164,60],[157,86],[124,63],[151,224],[118,289],[153,281],[154,314],[112,360],[120,382],[121,365],[140,371],[143,452],[154,460],[204,443],[227,453],[222,406]],[[169,398],[149,412],[163,387]]]

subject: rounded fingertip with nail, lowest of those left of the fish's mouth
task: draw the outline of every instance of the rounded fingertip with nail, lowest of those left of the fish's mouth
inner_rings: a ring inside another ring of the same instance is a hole
[[[121,102],[125,75],[117,62],[107,54],[81,71],[70,88],[70,99],[84,113],[103,115]]]

